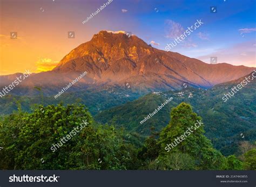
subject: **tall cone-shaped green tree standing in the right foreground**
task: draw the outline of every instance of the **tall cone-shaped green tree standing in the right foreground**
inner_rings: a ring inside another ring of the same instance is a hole
[[[211,141],[204,136],[203,127],[201,117],[192,111],[191,106],[180,103],[172,109],[171,121],[160,133],[158,142],[161,146],[160,156],[183,153],[194,160],[196,163],[194,169],[223,169],[225,158],[212,147]],[[178,139],[181,136],[183,139]]]

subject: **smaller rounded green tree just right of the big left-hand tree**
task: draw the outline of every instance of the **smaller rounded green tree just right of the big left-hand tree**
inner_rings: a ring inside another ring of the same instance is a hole
[[[81,148],[84,169],[126,169],[123,163],[131,160],[131,155],[122,147],[123,140],[113,126],[100,126],[94,132],[85,130],[82,136],[85,138]]]

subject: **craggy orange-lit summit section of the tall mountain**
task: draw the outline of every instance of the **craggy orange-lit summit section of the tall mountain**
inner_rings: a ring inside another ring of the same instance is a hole
[[[137,36],[125,31],[99,31],[90,41],[83,43],[66,55],[56,68],[63,66],[70,60],[90,56],[93,61],[101,57],[120,59],[132,57],[138,60],[138,54],[151,54],[153,48]]]

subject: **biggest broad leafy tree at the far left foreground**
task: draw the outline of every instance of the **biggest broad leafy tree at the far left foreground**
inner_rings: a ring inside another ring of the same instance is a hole
[[[92,124],[91,115],[82,105],[40,106],[30,114],[20,112],[8,116],[1,124],[0,138],[6,149],[14,148],[15,154],[11,160],[14,160],[15,169],[72,169],[81,160],[79,157],[72,162],[69,160],[70,154],[79,155],[81,152],[77,146],[82,144],[80,132],[78,131],[67,142],[62,139],[74,127],[83,123],[83,120]],[[16,137],[13,141],[6,138],[12,135],[9,128],[16,128],[16,133],[13,133]],[[59,148],[55,146],[58,150],[53,151],[53,144],[56,145],[58,142]],[[9,151],[4,153],[4,157],[10,158]]]

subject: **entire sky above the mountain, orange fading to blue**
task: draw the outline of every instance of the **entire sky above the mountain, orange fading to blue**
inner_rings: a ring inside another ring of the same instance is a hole
[[[202,23],[172,52],[210,63],[256,67],[256,1],[0,0],[0,75],[55,67],[101,30],[132,32],[160,50]],[[75,32],[68,37],[68,32]],[[12,38],[11,38],[12,36]]]

